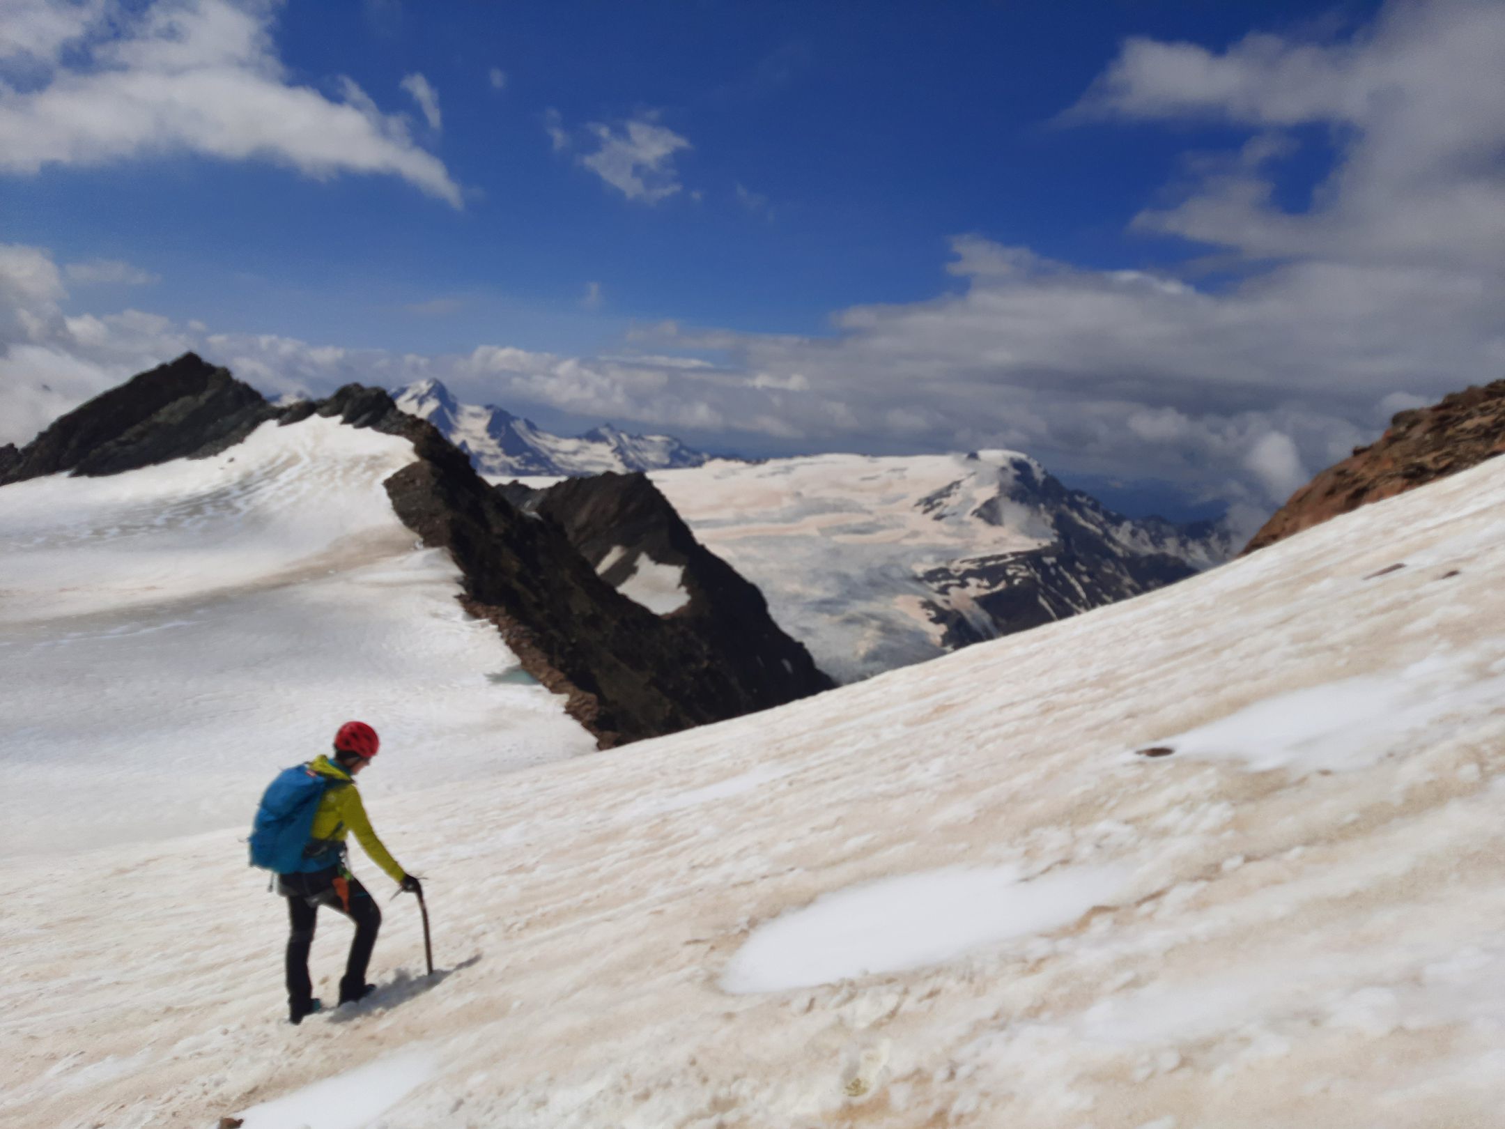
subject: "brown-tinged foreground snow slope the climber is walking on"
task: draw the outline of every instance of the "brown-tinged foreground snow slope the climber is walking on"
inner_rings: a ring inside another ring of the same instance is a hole
[[[1496,459],[778,711],[435,780],[379,820],[444,972],[387,903],[382,994],[301,1028],[235,832],[0,864],[0,1121],[328,1129],[390,1075],[388,1129],[1496,1124],[1502,569]],[[856,912],[883,947],[832,944]]]

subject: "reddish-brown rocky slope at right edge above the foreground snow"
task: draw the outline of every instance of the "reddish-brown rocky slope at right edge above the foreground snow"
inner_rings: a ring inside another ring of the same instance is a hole
[[[1368,447],[1329,467],[1276,510],[1245,552],[1339,513],[1404,494],[1505,455],[1505,381],[1455,391],[1430,408],[1398,412]]]

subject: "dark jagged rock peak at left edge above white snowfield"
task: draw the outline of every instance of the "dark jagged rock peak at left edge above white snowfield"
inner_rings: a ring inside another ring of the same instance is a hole
[[[232,447],[277,409],[227,369],[185,352],[56,420],[6,465],[0,486],[44,474],[119,474]]]

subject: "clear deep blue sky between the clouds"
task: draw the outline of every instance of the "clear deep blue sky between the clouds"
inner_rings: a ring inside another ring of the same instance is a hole
[[[1309,17],[1270,5],[1260,23]],[[415,117],[400,83],[432,84],[441,129],[417,134],[462,211],[391,178],[176,155],[6,182],[8,238],[135,263],[178,316],[318,342],[503,334],[584,352],[665,318],[822,333],[846,306],[932,297],[962,232],[1091,266],[1186,257],[1124,227],[1187,148],[1227,131],[1054,119],[1130,33],[1221,45],[1245,30],[1243,6],[1195,2],[295,2],[274,32],[292,81],[333,93],[349,75]],[[692,146],[674,158],[682,188],[628,199],[554,152],[549,111],[575,129],[656,114]],[[602,300],[582,310],[591,281]]]

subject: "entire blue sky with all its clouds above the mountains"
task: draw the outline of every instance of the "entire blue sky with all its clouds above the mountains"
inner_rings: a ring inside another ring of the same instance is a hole
[[[1505,364],[1496,3],[15,9],[33,414],[187,343],[719,450],[1014,446],[1206,512]]]

